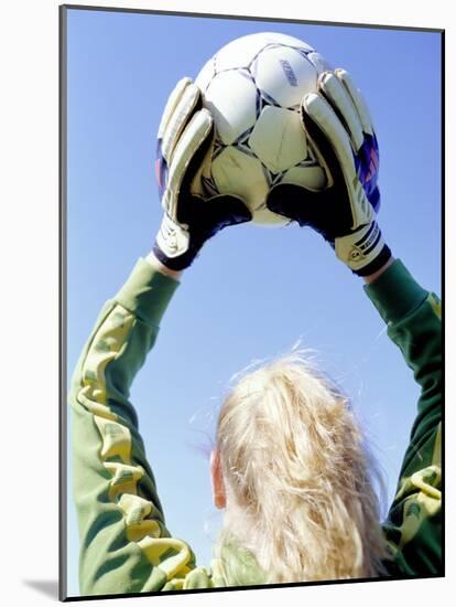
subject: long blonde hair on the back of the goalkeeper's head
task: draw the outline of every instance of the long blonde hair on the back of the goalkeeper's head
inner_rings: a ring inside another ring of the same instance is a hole
[[[248,371],[225,400],[216,446],[227,493],[218,553],[236,537],[268,583],[384,573],[384,484],[349,401],[302,352]]]

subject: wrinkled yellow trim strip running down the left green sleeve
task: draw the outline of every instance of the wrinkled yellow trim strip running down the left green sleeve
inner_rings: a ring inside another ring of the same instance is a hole
[[[135,322],[135,316],[119,303],[106,317],[84,361],[77,398],[90,411],[99,430],[99,455],[110,476],[108,496],[123,513],[128,541],[142,550],[173,587],[182,588],[185,576],[193,571],[192,551],[182,540],[162,536],[164,529],[161,522],[148,519],[153,504],[138,496],[138,482],[144,476],[144,469],[132,461],[130,429],[107,403],[106,368],[126,347]]]

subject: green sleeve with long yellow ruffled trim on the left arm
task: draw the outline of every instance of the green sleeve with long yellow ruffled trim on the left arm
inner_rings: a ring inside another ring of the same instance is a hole
[[[140,258],[106,302],[73,375],[73,491],[83,595],[176,589],[195,577],[192,550],[165,526],[129,401],[177,285]]]

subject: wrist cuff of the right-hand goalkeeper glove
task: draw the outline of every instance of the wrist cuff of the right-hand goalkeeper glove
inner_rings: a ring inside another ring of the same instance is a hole
[[[335,239],[337,257],[358,276],[369,276],[391,257],[377,222]]]

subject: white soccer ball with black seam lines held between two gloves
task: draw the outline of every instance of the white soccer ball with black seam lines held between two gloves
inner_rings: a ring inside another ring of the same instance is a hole
[[[237,194],[261,225],[285,225],[265,206],[276,183],[322,190],[326,175],[301,126],[300,104],[330,66],[308,44],[284,34],[234,40],[203,67],[195,84],[215,123],[210,162],[198,181],[206,195]]]

